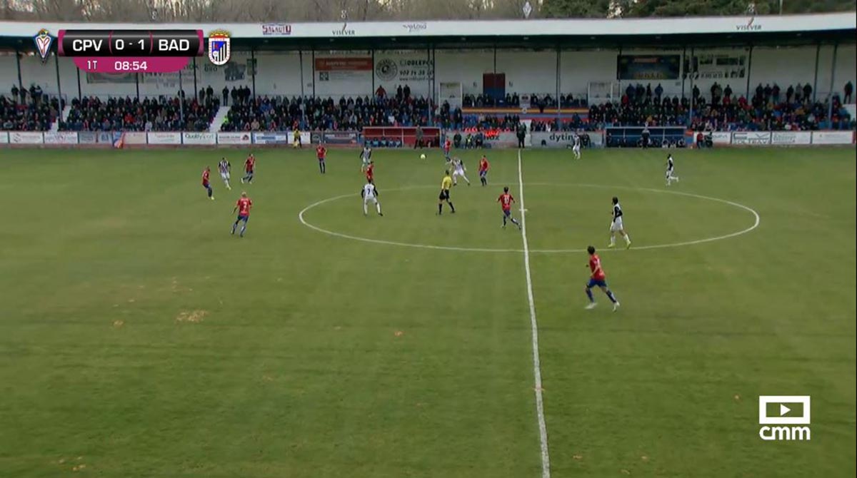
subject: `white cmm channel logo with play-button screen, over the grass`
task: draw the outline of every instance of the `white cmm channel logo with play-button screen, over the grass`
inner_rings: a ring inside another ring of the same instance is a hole
[[[765,441],[809,440],[809,427],[769,427],[769,425],[809,425],[809,395],[761,395],[758,397],[758,437]],[[800,415],[797,415],[800,409]]]

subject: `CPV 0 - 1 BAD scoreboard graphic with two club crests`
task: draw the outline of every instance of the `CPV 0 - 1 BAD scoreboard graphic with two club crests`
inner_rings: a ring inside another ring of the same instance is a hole
[[[205,55],[202,30],[60,30],[56,41],[42,28],[33,42],[42,63],[57,45],[57,55],[72,57],[87,73],[174,73],[192,57]],[[215,30],[208,35],[208,59],[225,65],[230,58],[230,35]]]

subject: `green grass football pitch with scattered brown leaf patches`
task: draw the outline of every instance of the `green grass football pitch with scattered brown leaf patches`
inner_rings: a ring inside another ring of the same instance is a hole
[[[357,150],[4,150],[0,475],[535,478],[542,419],[554,478],[857,473],[854,148],[487,152],[438,216],[440,152],[376,150],[364,217]]]

